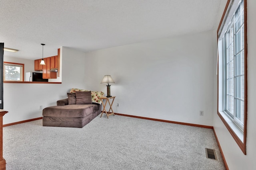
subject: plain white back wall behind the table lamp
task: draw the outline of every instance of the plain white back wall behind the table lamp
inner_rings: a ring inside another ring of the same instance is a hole
[[[106,93],[100,82],[110,74],[115,112],[212,125],[212,38],[208,31],[86,53],[86,86]]]

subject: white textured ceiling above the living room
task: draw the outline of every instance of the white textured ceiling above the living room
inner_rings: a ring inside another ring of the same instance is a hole
[[[214,29],[223,0],[1,0],[5,56],[39,59],[61,46],[94,51]]]

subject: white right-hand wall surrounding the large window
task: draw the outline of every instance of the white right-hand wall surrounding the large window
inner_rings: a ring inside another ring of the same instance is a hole
[[[226,158],[230,170],[253,170],[256,169],[255,152],[256,152],[256,1],[247,0],[247,38],[248,38],[248,121],[247,121],[247,155],[244,155],[238,147],[233,137],[230,135],[225,125],[217,115],[217,76],[214,75],[214,129],[220,142],[222,151]],[[224,11],[225,4],[222,4],[221,14]],[[221,17],[221,16],[220,16]],[[219,17],[219,21],[220,21]],[[214,34],[216,37],[216,32]],[[215,51],[216,41],[214,41]],[[216,53],[215,53],[216,54]],[[216,62],[214,63],[216,68]]]

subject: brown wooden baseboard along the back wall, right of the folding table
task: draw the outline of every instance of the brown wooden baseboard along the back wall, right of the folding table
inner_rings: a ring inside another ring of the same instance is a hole
[[[167,122],[167,123],[175,123],[175,124],[180,124],[180,125],[188,125],[188,126],[196,126],[196,127],[204,127],[208,129],[213,129],[213,126],[206,126],[206,125],[198,125],[198,124],[192,124],[192,123],[183,123],[183,122],[178,122],[178,121],[169,121],[169,120],[162,120],[162,119],[154,119],[154,118],[149,118],[149,117],[141,117],[141,116],[134,116],[134,115],[126,115],[126,114],[121,114],[121,113],[115,113],[115,115],[121,115],[121,116],[127,116],[127,117],[135,117],[139,119],[147,119],[147,120],[154,120],[154,121],[162,121],[162,122]]]

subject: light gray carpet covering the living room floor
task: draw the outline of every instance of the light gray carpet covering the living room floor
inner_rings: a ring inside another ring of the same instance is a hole
[[[212,129],[99,116],[82,129],[42,119],[4,127],[7,170],[224,170]],[[215,149],[218,160],[206,158]]]

